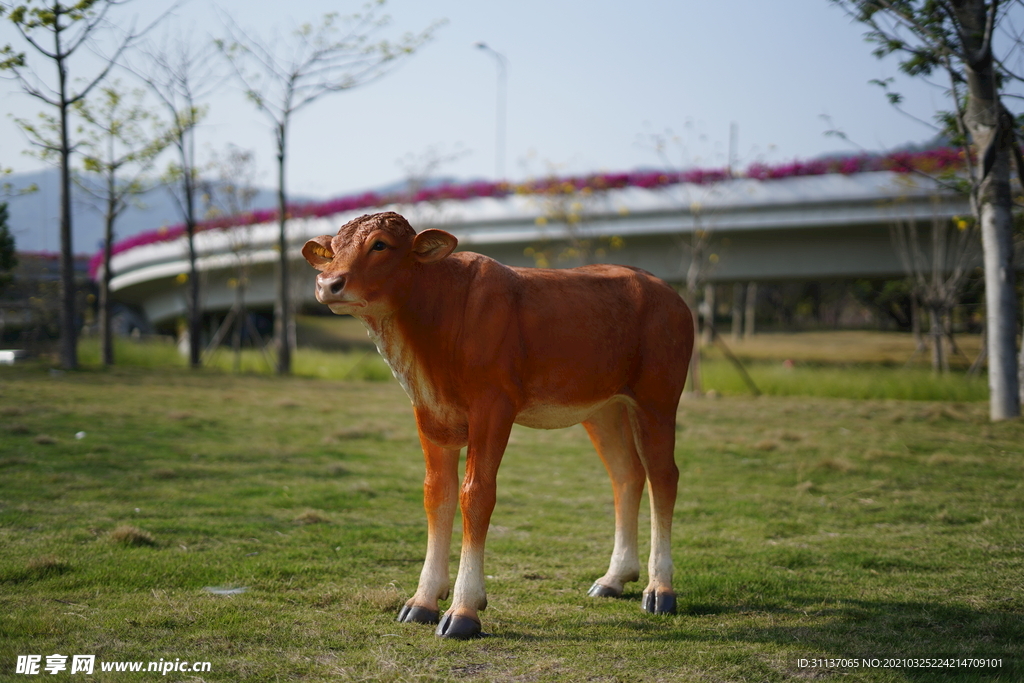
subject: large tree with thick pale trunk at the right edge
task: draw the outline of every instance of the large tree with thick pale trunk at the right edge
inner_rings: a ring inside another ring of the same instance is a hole
[[[911,76],[948,79],[950,133],[965,150],[966,190],[980,226],[985,267],[989,416],[1020,416],[1017,301],[1013,263],[1011,168],[1024,172],[1014,117],[1004,103],[1007,84],[1024,82],[1008,68],[1012,54],[994,52],[1008,9],[1000,0],[833,0],[868,27],[879,56],[898,53]],[[1020,40],[1011,41],[1019,51]],[[898,93],[889,93],[899,102]]]

